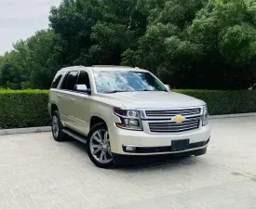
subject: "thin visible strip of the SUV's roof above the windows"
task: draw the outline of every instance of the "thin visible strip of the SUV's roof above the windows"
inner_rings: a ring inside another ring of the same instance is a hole
[[[138,71],[147,72],[146,70],[140,69],[138,67],[132,68],[128,66],[115,66],[115,65],[93,65],[91,67],[85,66],[72,66],[67,68],[62,68],[60,72],[67,71],[82,71],[82,70],[92,70],[92,71]]]

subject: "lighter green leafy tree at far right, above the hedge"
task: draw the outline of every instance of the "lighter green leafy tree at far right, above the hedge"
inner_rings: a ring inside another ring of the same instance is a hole
[[[197,14],[188,33],[203,49],[198,64],[204,86],[249,86],[255,72],[255,14],[243,0],[212,1]]]

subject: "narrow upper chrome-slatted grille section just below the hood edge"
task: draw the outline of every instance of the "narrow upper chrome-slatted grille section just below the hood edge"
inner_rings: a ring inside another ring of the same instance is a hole
[[[194,115],[200,114],[201,109],[183,109],[183,110],[163,110],[163,111],[145,111],[146,115],[149,117],[168,117],[168,116],[175,116],[175,115]]]

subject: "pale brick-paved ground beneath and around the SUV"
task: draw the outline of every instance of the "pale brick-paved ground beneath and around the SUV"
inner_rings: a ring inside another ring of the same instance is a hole
[[[209,152],[103,170],[50,133],[0,137],[0,209],[256,208],[256,117],[211,121]]]

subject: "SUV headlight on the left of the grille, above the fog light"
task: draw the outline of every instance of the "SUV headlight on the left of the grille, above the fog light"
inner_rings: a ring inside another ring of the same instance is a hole
[[[129,130],[138,130],[138,131],[142,130],[139,111],[122,110],[122,109],[115,108],[114,113],[121,120],[121,123],[116,123],[117,127],[129,129]]]

